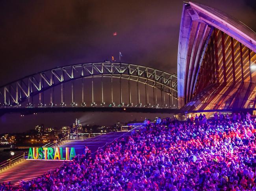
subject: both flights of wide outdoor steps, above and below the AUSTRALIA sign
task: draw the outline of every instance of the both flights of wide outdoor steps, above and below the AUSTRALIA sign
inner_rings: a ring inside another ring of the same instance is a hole
[[[84,154],[85,146],[87,146],[91,150],[91,153],[95,153],[98,147],[102,147],[106,143],[110,143],[115,138],[122,135],[124,135],[123,137],[126,137],[129,136],[130,133],[111,132],[85,140],[67,140],[61,142],[58,147],[74,147],[76,155],[82,155]],[[63,149],[63,151],[65,153],[65,149]],[[63,155],[65,156],[64,153]],[[94,157],[95,155],[92,154],[91,156]],[[11,164],[11,166],[7,166],[0,170],[0,183],[11,182],[13,186],[19,186],[20,181],[33,180],[34,178],[42,176],[44,173],[47,173],[50,170],[55,171],[57,168],[63,166],[63,164],[67,162],[69,161],[21,159]]]

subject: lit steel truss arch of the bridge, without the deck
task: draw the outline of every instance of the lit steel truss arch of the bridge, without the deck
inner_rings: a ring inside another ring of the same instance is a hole
[[[61,96],[63,96],[63,84],[77,79],[96,77],[120,78],[120,96],[122,100],[121,79],[132,80],[137,82],[137,90],[139,92],[138,83],[143,83],[160,89],[171,96],[172,99],[177,100],[177,76],[166,73],[150,67],[141,65],[126,64],[126,63],[87,63],[74,64],[65,67],[57,67],[54,69],[42,71],[33,75],[26,76],[19,80],[13,81],[9,84],[0,87],[0,103],[2,107],[17,107],[21,103],[39,94],[39,102],[44,106],[41,100],[41,93],[61,85]],[[111,80],[112,82],[112,80]],[[93,84],[92,84],[93,85]],[[93,86],[92,86],[93,87]],[[103,87],[102,87],[103,88]],[[130,91],[130,89],[129,89]],[[112,93],[112,86],[111,86]],[[83,94],[83,91],[82,91]],[[113,94],[113,93],[112,93]],[[51,105],[54,106],[54,98],[51,96]],[[82,95],[84,97],[84,95]],[[103,93],[102,93],[103,97]],[[130,97],[130,95],[129,95]],[[72,103],[73,103],[73,89],[72,89]],[[113,96],[112,96],[113,102]],[[121,101],[122,102],[122,101]],[[129,101],[130,102],[130,101]],[[61,103],[64,106],[64,100],[61,97]],[[139,103],[139,93],[138,93]],[[130,104],[130,103],[129,103]],[[75,105],[74,105],[75,106]],[[83,105],[82,105],[83,106]]]

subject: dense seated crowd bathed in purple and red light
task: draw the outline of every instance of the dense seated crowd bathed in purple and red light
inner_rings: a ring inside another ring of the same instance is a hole
[[[147,120],[95,158],[86,149],[19,190],[256,190],[256,119],[248,114]]]

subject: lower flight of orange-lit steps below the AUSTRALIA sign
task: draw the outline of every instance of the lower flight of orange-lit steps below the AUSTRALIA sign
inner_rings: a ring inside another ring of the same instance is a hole
[[[50,170],[61,167],[64,160],[26,160],[21,159],[0,171],[0,182],[11,182],[19,186],[20,181],[33,180]]]

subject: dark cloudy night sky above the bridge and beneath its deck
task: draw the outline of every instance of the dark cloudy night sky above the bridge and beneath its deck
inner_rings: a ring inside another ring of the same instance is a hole
[[[220,9],[256,31],[255,0],[197,2]],[[0,85],[57,66],[103,62],[110,60],[111,55],[118,60],[119,51],[122,62],[176,73],[182,5],[182,0],[2,0]],[[49,122],[47,115],[34,119],[4,115],[0,119],[0,133],[23,131],[42,123],[65,125],[59,123],[61,120]],[[109,115],[112,114],[77,114],[91,123],[99,116],[102,124],[125,119],[114,114],[117,118],[109,121]],[[70,124],[76,117],[65,116],[65,123]],[[58,114],[57,118],[61,117]]]

